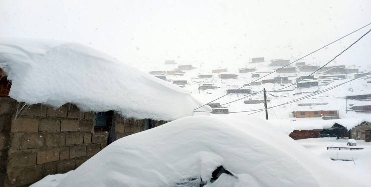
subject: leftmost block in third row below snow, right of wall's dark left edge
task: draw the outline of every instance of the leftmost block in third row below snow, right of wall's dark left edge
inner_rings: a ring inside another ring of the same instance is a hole
[[[38,133],[15,133],[12,138],[12,149],[31,149],[44,147],[44,136]]]

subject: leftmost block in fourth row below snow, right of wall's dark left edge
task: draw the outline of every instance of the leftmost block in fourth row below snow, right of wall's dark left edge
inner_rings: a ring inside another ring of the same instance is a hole
[[[8,168],[36,165],[36,151],[18,151],[8,155]]]

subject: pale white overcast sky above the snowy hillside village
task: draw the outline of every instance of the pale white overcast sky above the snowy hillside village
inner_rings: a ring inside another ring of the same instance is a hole
[[[370,11],[369,0],[0,0],[0,37],[77,42],[134,65],[295,59],[371,23]],[[324,63],[369,29],[308,61]],[[339,60],[371,64],[371,34]]]

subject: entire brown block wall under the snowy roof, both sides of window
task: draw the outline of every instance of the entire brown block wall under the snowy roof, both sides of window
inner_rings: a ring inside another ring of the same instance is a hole
[[[167,122],[114,113],[109,133],[94,131],[94,117],[73,104],[55,109],[0,97],[0,186],[29,186],[65,173],[107,146],[110,133],[114,141]]]

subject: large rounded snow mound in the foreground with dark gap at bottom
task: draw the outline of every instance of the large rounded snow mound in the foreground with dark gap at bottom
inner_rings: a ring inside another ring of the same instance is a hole
[[[220,165],[234,176],[221,174]],[[352,179],[274,126],[245,116],[191,116],[121,138],[44,186],[350,186]],[[56,182],[57,181],[57,182]]]

